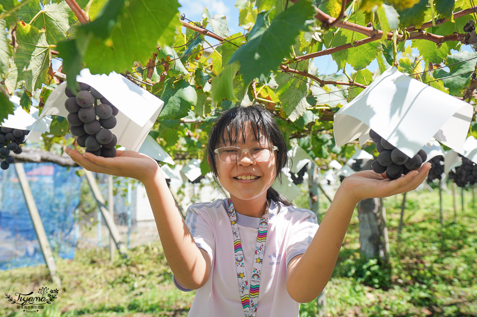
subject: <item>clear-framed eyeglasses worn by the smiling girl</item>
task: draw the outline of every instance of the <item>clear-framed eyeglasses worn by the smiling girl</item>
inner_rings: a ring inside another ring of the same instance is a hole
[[[214,150],[219,159],[224,163],[235,163],[242,154],[248,154],[256,162],[267,162],[273,158],[274,151],[278,151],[275,145],[254,145],[249,149],[237,146],[224,146]]]

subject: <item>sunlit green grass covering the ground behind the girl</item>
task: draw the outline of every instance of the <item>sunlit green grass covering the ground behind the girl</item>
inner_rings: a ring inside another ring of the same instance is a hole
[[[326,287],[328,316],[477,316],[477,210],[472,194],[465,193],[464,211],[459,200],[457,222],[452,196],[444,195],[444,228],[436,192],[408,194],[398,239],[402,197],[385,199],[387,264],[361,257],[355,212]],[[306,207],[306,195],[295,203]],[[328,205],[321,197],[322,213]],[[73,261],[56,259],[56,265],[62,281],[57,299],[35,316],[179,317],[187,315],[195,294],[175,288],[157,244],[130,249],[129,259],[118,257],[112,263],[107,249],[77,249]],[[12,295],[56,288],[47,278],[45,266],[0,271],[0,290]],[[302,304],[300,317],[316,316],[317,310],[315,301]],[[3,299],[0,316],[27,315]]]

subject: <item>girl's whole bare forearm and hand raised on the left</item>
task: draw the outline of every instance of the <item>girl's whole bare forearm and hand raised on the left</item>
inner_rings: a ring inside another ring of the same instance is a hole
[[[199,249],[157,162],[133,151],[117,151],[115,158],[103,158],[76,150],[66,150],[80,166],[96,173],[131,177],[142,182],[151,204],[167,263],[178,281],[190,289],[201,287],[210,273],[210,258]]]

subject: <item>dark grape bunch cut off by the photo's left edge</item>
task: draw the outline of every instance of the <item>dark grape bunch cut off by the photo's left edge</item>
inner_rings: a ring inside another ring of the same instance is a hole
[[[20,154],[22,149],[21,144],[25,143],[25,136],[28,134],[28,130],[12,129],[1,127],[0,128],[0,168],[6,170],[10,167],[10,164],[15,162],[15,158],[11,156],[11,153]]]

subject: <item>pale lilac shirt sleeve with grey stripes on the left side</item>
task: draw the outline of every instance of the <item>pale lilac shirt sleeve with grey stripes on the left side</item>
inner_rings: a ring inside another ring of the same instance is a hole
[[[210,262],[212,263],[214,259],[215,243],[210,217],[206,212],[201,210],[199,204],[195,204],[187,209],[185,213],[185,224],[197,244],[197,247],[207,252],[210,257]],[[184,287],[175,276],[173,276],[173,282],[181,291],[191,291],[191,289]]]

